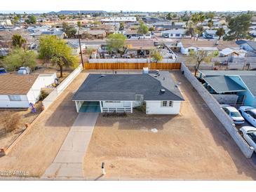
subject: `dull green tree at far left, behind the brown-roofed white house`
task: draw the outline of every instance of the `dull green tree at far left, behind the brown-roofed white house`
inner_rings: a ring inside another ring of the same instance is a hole
[[[4,67],[7,70],[13,71],[20,67],[36,67],[36,53],[33,50],[23,50],[22,48],[15,48],[4,57]]]

